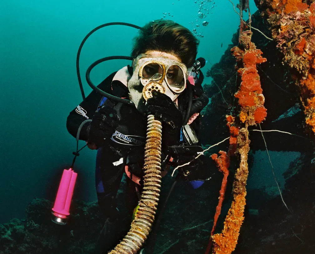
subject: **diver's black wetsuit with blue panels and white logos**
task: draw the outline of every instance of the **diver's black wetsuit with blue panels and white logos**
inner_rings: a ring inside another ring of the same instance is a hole
[[[116,72],[108,76],[98,85],[98,88],[117,97],[128,97],[128,88],[120,81],[114,80]],[[185,113],[187,101],[185,90],[183,96],[178,97],[179,110]],[[142,166],[144,163],[144,145],[146,139],[146,116],[139,113],[134,105],[110,101],[106,97],[92,91],[67,118],[67,130],[76,137],[80,124],[86,119],[93,119],[95,112],[101,105],[107,103],[115,108],[119,117],[119,127],[113,133],[111,140],[97,150],[95,185],[98,202],[105,216],[111,216],[116,209],[116,194],[125,171],[125,165],[129,171],[142,178]],[[199,119],[191,126],[198,133]],[[81,132],[80,139],[88,140],[89,124],[86,123]],[[162,125],[163,126],[163,125]],[[162,128],[163,129],[163,128]],[[182,136],[179,135],[179,140]],[[163,136],[162,136],[163,143]],[[166,151],[164,151],[164,154]],[[141,183],[141,182],[140,182]],[[132,211],[137,205],[136,184],[127,177],[127,208]],[[141,191],[141,190],[140,190]]]

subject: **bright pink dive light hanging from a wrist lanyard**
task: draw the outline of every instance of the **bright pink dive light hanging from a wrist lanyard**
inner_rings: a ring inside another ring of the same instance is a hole
[[[52,221],[66,225],[69,218],[69,209],[73,194],[74,185],[77,180],[77,173],[72,168],[63,170],[61,181],[59,184],[54,208],[52,209]]]

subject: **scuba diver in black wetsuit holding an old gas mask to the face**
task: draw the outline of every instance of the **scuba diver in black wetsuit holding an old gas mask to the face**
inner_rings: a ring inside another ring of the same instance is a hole
[[[132,66],[110,74],[97,86],[109,96],[93,90],[67,118],[68,132],[76,137],[79,131],[78,138],[97,149],[95,184],[106,222],[96,253],[111,251],[122,239],[116,195],[124,173],[131,214],[139,202],[149,112],[162,122],[162,176],[170,166],[190,162],[200,152],[199,113],[209,98],[201,86],[199,68],[205,61],[196,60],[198,44],[192,32],[174,21],[147,23],[134,39]],[[130,103],[121,102],[126,99]],[[202,157],[178,170],[177,176],[193,188],[208,175]]]

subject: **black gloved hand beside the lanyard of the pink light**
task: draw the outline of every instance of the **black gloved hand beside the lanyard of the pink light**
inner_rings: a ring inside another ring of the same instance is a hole
[[[95,113],[89,130],[89,143],[94,143],[96,147],[104,146],[118,127],[117,111],[109,106],[102,106]]]

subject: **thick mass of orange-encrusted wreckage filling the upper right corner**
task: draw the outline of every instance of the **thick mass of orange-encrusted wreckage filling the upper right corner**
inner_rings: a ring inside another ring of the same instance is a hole
[[[263,0],[257,7],[271,26],[283,62],[291,69],[300,90],[306,125],[315,133],[315,3]]]

